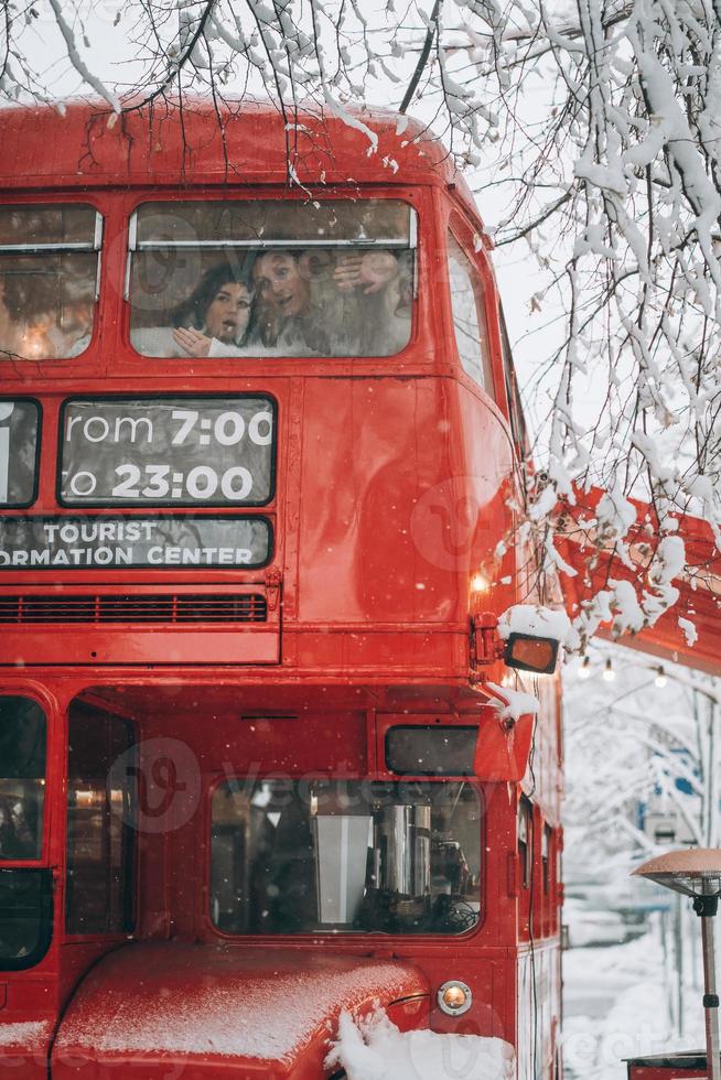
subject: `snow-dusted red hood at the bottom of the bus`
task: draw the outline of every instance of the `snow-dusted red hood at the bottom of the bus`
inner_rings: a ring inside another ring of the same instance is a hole
[[[399,961],[130,944],[105,957],[71,1001],[52,1077],[318,1080],[343,1008],[416,998],[406,1026],[424,1026],[428,994],[423,975]]]

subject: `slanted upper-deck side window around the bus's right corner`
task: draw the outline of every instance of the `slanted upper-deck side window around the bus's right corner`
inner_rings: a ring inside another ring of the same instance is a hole
[[[461,365],[465,374],[493,397],[483,282],[452,233],[448,237],[448,260],[453,326]]]

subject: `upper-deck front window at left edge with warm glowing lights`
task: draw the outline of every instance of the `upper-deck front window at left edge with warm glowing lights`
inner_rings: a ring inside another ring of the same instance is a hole
[[[92,206],[0,206],[0,357],[68,359],[87,348],[101,236]]]

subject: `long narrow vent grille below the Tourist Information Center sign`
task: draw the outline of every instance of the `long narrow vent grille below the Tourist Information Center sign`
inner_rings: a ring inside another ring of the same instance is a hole
[[[265,623],[259,593],[0,596],[0,624]]]

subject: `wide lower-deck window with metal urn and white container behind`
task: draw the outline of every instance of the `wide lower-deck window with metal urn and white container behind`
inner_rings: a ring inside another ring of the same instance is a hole
[[[213,796],[211,915],[227,933],[462,933],[480,875],[469,784],[228,780]]]

